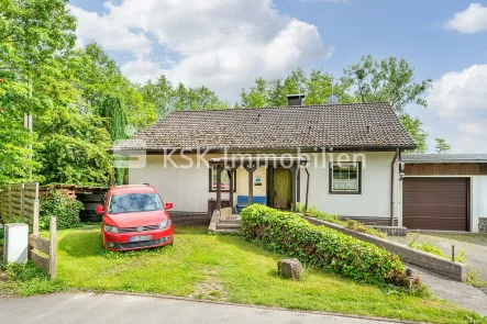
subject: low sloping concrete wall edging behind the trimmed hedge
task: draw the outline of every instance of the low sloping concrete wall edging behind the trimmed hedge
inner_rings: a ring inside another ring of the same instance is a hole
[[[390,253],[394,253],[395,255],[399,256],[401,260],[406,264],[410,264],[423,269],[427,269],[431,272],[441,275],[443,277],[447,277],[450,279],[465,282],[467,280],[467,268],[465,265],[460,262],[454,262],[441,257],[438,257],[435,255],[410,248],[409,246],[391,242],[378,236],[374,236],[366,233],[358,233],[348,228],[345,228],[343,226],[340,226],[337,224],[333,224],[330,222],[317,220],[313,217],[301,215],[305,220],[310,222],[311,224],[318,225],[318,226],[326,226],[333,230],[336,230],[343,234],[351,235],[353,237],[356,237],[358,239],[372,243],[377,245],[380,248],[385,248]]]

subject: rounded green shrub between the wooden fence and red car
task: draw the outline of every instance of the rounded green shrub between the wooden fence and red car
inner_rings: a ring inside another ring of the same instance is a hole
[[[41,199],[38,225],[42,230],[49,228],[51,215],[57,216],[57,228],[71,228],[80,225],[79,212],[84,210],[75,197],[53,190]]]

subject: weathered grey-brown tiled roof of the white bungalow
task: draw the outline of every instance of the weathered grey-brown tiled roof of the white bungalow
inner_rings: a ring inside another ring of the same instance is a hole
[[[388,103],[176,111],[114,149],[413,148]]]

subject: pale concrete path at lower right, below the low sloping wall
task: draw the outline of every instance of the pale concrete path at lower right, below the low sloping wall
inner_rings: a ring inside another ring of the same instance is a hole
[[[467,311],[487,316],[487,294],[479,289],[454,281],[414,266],[405,265],[419,275],[434,297],[449,300]]]

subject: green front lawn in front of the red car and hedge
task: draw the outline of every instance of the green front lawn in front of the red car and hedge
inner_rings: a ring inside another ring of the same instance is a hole
[[[453,304],[388,294],[322,270],[305,269],[300,281],[277,277],[284,256],[239,236],[206,228],[177,228],[174,247],[109,253],[97,227],[59,231],[58,277],[70,288],[120,290],[226,300],[266,306],[339,312],[436,323],[468,323]]]

